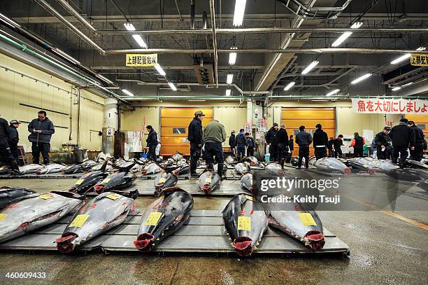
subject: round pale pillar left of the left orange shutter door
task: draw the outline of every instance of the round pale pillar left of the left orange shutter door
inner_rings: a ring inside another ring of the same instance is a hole
[[[113,156],[114,134],[117,130],[117,100],[107,98],[104,103],[102,151]]]

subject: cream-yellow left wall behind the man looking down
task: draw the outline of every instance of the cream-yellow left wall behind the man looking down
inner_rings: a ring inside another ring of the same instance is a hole
[[[0,53],[0,115],[20,120],[20,145],[31,151],[27,126],[44,109],[55,125],[51,149],[78,141],[78,90],[60,78]],[[80,92],[80,146],[101,149],[104,98],[90,91]],[[71,137],[71,139],[70,139]]]

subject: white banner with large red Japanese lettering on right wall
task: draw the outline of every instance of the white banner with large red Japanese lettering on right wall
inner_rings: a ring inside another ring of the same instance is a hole
[[[352,110],[355,113],[428,115],[428,100],[352,98]]]

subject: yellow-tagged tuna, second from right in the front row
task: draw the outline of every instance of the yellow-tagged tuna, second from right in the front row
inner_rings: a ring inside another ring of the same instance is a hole
[[[268,217],[255,197],[238,194],[223,210],[224,227],[239,256],[250,256],[268,228]]]

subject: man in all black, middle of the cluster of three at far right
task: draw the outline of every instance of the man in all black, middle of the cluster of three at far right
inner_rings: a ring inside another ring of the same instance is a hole
[[[400,167],[404,167],[409,146],[412,151],[415,149],[415,133],[407,124],[408,120],[406,118],[401,118],[399,125],[392,127],[390,132],[392,146],[394,147],[392,151],[392,161],[397,163],[400,155]]]

